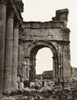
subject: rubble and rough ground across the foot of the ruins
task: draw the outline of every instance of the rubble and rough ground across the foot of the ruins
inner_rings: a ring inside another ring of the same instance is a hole
[[[10,94],[4,94],[3,100],[77,100],[77,87],[62,89],[61,84],[52,85],[53,82],[40,83],[33,82],[30,87],[12,91]],[[37,88],[36,88],[37,87]]]

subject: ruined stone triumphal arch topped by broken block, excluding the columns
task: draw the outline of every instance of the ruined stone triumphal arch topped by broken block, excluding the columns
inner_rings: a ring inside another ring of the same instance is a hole
[[[56,11],[56,16],[50,22],[24,22],[19,38],[19,74],[24,80],[34,80],[36,54],[39,49],[48,47],[53,53],[54,81],[69,81],[70,31],[67,28],[67,17],[68,10],[64,9]]]

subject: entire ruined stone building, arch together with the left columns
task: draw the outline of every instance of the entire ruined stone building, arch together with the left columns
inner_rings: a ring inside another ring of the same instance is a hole
[[[49,22],[23,22],[21,12],[22,0],[0,0],[0,100],[17,89],[18,75],[34,80],[35,56],[43,47],[53,53],[54,82],[67,83],[71,76],[68,9],[57,10]]]

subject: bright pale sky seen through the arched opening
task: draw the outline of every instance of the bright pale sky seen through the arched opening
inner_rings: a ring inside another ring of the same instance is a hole
[[[36,54],[36,74],[42,74],[44,71],[53,70],[53,53],[50,48],[44,47],[38,50]]]

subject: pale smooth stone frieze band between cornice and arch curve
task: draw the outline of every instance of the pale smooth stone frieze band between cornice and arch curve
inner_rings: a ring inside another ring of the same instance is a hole
[[[55,29],[24,29],[21,38],[25,40],[62,40],[69,41],[69,34],[60,28]]]

